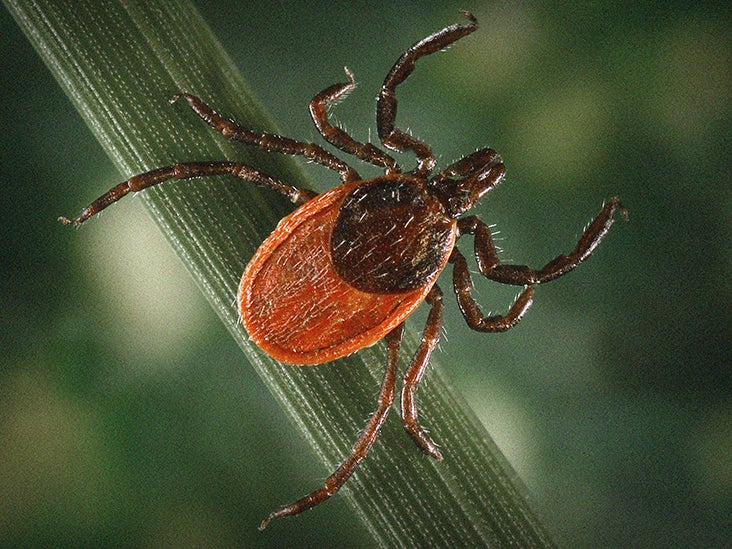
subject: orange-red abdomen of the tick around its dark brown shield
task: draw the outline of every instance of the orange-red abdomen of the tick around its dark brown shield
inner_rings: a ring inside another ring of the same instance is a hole
[[[433,272],[416,289],[361,291],[334,268],[331,235],[344,201],[356,189],[384,181],[391,183],[379,178],[318,195],[284,218],[257,250],[239,285],[239,312],[249,336],[272,358],[319,364],[368,347],[409,316],[433,286],[455,242],[452,220],[443,229]],[[424,213],[424,204],[416,207]],[[411,223],[422,226],[417,219]]]

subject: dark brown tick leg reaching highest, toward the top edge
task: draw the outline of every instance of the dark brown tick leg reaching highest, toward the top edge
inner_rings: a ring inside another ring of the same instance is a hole
[[[444,28],[405,51],[387,74],[376,100],[376,124],[381,142],[393,151],[413,151],[417,155],[416,175],[427,175],[437,161],[426,143],[394,126],[397,113],[396,87],[412,74],[420,57],[445,49],[478,28],[478,22],[471,13],[465,12],[465,16],[469,20],[467,24]]]

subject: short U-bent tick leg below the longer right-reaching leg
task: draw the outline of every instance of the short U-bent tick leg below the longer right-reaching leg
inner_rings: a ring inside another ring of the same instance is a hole
[[[468,271],[468,263],[465,261],[465,256],[457,248],[452,250],[450,263],[453,264],[452,280],[458,306],[468,326],[473,330],[478,332],[505,332],[513,328],[531,307],[534,287],[527,286],[519,294],[508,314],[483,316],[478,303],[470,295],[473,289],[473,281],[470,278],[470,271]]]

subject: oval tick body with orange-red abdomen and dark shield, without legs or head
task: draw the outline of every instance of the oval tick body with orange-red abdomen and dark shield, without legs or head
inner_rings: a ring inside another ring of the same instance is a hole
[[[239,286],[244,327],[294,364],[373,345],[424,301],[456,234],[413,177],[336,187],[283,219],[252,258]]]

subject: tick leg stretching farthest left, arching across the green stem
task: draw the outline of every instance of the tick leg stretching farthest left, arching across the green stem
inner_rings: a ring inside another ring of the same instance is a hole
[[[158,168],[156,170],[131,177],[127,181],[123,181],[119,185],[112,187],[94,202],[89,204],[82,210],[81,214],[79,214],[79,217],[76,219],[59,217],[59,221],[65,225],[81,225],[94,214],[101,212],[110,204],[114,204],[130,191],[141,191],[142,189],[153,187],[158,183],[162,183],[170,179],[190,179],[192,177],[224,174],[234,175],[241,179],[248,179],[257,185],[274,189],[275,191],[284,194],[295,204],[302,204],[316,196],[316,193],[312,191],[300,189],[293,185],[283,183],[274,177],[270,177],[269,175],[240,162],[188,162]]]

